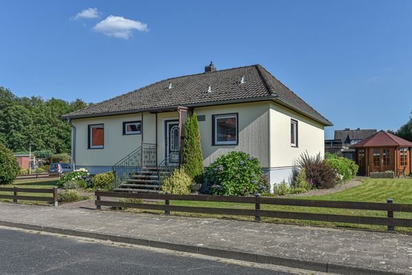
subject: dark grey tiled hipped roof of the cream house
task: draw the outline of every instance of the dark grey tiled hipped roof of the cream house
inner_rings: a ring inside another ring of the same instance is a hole
[[[244,77],[244,83],[240,80]],[[170,84],[172,88],[169,89]],[[211,91],[208,92],[209,86]],[[216,72],[169,78],[105,100],[63,118],[88,118],[120,113],[198,107],[229,102],[274,100],[290,109],[321,122],[332,123],[310,107],[293,91],[273,77],[264,67],[251,65]]]

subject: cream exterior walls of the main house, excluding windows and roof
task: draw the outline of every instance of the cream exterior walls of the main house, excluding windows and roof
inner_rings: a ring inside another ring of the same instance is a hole
[[[296,159],[308,151],[310,155],[324,152],[323,125],[274,102],[249,102],[214,107],[198,107],[196,115],[205,115],[199,122],[205,166],[230,151],[244,151],[260,160],[270,175],[271,184],[289,181]],[[212,115],[238,113],[238,145],[212,145]],[[157,121],[156,121],[157,118]],[[298,147],[290,146],[290,119],[298,121]],[[142,134],[123,135],[123,122],[141,120],[141,113],[72,120],[76,127],[76,168],[91,173],[111,170],[113,164],[144,143],[157,144],[157,162],[165,157],[165,121],[178,120],[177,111],[143,113]],[[104,124],[104,148],[88,148],[88,125]],[[157,140],[156,140],[157,135]]]

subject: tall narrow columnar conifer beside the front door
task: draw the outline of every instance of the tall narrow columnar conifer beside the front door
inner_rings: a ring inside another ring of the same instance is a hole
[[[196,113],[187,118],[185,126],[185,143],[182,153],[182,167],[187,175],[194,179],[196,184],[203,184],[205,167],[203,166],[203,152],[201,132]]]

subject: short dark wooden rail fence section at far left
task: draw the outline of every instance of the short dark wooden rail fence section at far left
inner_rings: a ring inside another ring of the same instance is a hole
[[[0,199],[12,199],[14,203],[18,203],[19,199],[24,201],[45,201],[54,203],[54,206],[58,206],[57,187],[54,188],[20,188],[14,187],[0,187],[0,192],[13,192],[13,195],[0,194]],[[53,194],[53,197],[35,197],[35,196],[22,196],[19,193],[43,193]]]

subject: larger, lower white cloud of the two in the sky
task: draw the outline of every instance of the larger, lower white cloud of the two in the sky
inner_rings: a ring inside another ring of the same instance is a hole
[[[101,32],[106,36],[129,39],[132,36],[133,30],[147,32],[149,29],[146,23],[109,15],[103,21],[97,23],[93,30]]]

